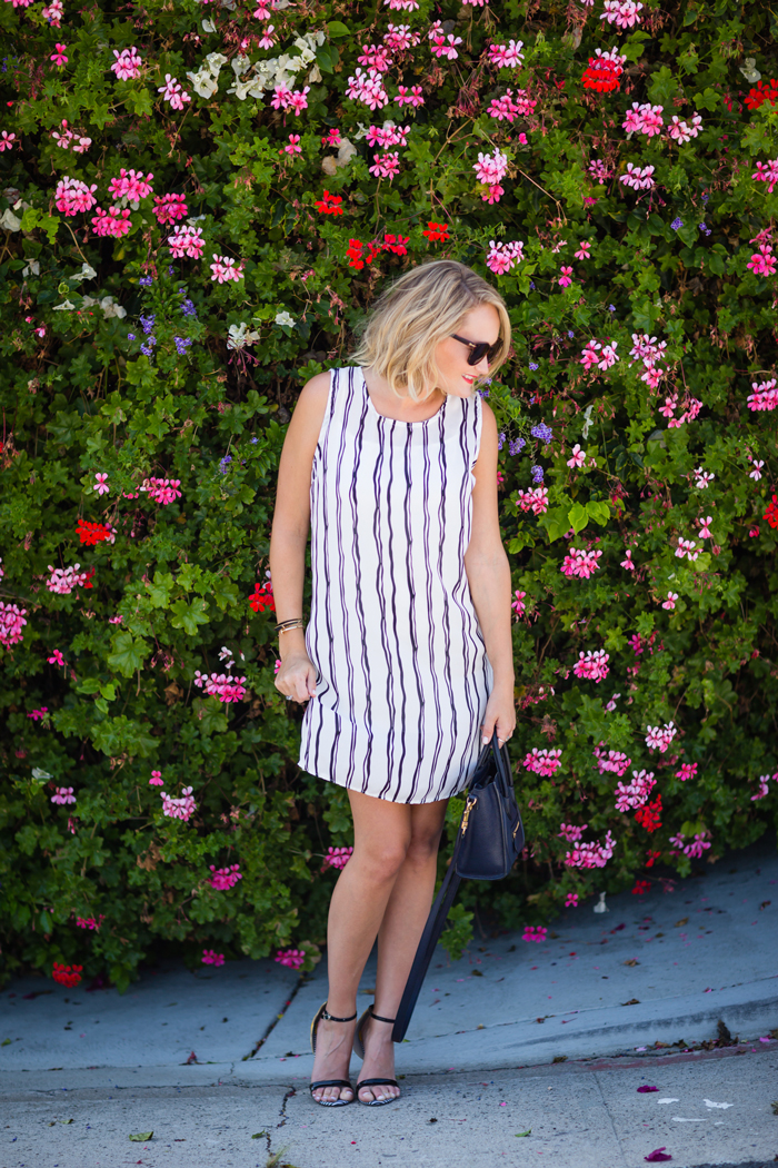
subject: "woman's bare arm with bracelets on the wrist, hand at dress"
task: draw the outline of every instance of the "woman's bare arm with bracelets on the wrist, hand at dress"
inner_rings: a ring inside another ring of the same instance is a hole
[[[330,375],[320,373],[303,385],[281,451],[271,533],[271,577],[279,621],[302,617],[310,475],[329,384]],[[303,628],[281,634],[279,656],[281,668],[275,677],[276,689],[299,702],[307,701],[316,691],[316,670],[306,651]]]

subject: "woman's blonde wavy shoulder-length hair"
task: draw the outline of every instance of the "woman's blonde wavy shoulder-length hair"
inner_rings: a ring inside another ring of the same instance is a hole
[[[385,377],[398,397],[405,396],[402,390],[422,401],[425,385],[435,385],[440,376],[436,345],[458,332],[462,318],[482,304],[491,304],[500,322],[502,347],[489,370],[493,376],[511,349],[507,308],[491,284],[455,259],[419,264],[400,276],[363,324],[350,360]]]

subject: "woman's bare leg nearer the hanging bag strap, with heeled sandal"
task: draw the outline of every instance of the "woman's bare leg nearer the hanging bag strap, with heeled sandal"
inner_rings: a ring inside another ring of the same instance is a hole
[[[378,933],[374,1013],[380,1017],[392,1018],[397,1014],[429,915],[447,804],[448,800],[443,799],[434,804],[411,805],[411,843]],[[367,1022],[363,1037],[365,1059],[359,1078],[394,1078],[392,1027],[386,1022]],[[359,1098],[392,1099],[399,1093],[398,1087],[388,1085],[363,1087]]]

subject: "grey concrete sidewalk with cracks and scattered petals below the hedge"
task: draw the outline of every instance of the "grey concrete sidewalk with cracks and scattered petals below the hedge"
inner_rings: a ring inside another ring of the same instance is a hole
[[[303,979],[272,961],[195,975],[167,967],[124,996],[9,985],[0,1168],[265,1168],[285,1145],[278,1163],[295,1168],[344,1157],[518,1168],[538,1156],[555,1168],[638,1168],[660,1147],[689,1168],[772,1163],[775,849],[724,857],[671,894],[622,894],[608,909],[568,910],[541,945],[476,941],[457,962],[441,950],[397,1051],[404,1097],[370,1112],[308,1096],[321,967]],[[710,1049],[727,1031],[740,1044]],[[355,1057],[355,1080],[359,1065]],[[148,1145],[129,1142],[149,1131]]]

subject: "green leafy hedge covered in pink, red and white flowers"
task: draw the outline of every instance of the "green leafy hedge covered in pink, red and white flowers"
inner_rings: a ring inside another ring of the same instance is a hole
[[[485,392],[530,843],[449,946],[775,827],[769,11],[63,4],[0,5],[6,974],[317,959],[351,840],[273,684],[274,472],[428,257],[516,329]]]

